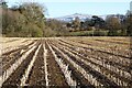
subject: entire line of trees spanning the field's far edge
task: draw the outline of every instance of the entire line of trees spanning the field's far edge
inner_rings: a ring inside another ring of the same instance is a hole
[[[75,18],[73,22],[62,22],[55,19],[46,19],[46,8],[36,2],[24,2],[8,8],[7,2],[0,3],[2,13],[2,35],[21,37],[66,36],[73,32],[94,31],[92,35],[132,35],[132,15],[120,21],[118,18],[106,20],[94,15],[91,20],[80,21]]]

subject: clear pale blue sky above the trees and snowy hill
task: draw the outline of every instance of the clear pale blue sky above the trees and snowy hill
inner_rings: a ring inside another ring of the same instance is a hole
[[[81,14],[125,14],[131,0],[7,0],[9,7],[21,2],[38,2],[47,8],[46,18],[58,18],[74,13]]]

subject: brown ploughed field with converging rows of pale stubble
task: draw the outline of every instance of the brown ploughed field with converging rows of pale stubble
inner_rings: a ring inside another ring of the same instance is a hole
[[[1,37],[0,86],[132,87],[130,37]]]

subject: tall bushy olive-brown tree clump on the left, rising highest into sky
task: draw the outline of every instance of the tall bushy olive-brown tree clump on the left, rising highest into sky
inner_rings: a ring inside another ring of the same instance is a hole
[[[43,36],[45,9],[38,3],[8,8],[2,2],[2,34],[6,36]]]

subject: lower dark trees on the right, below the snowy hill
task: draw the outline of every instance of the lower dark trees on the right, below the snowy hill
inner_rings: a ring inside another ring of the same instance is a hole
[[[70,32],[77,31],[94,31],[95,35],[101,35],[100,31],[106,31],[110,36],[117,35],[132,35],[132,14],[123,16],[122,19],[116,16],[108,16],[106,20],[99,18],[98,15],[92,15],[92,18],[80,21],[79,18],[75,18],[75,21],[67,23]]]

